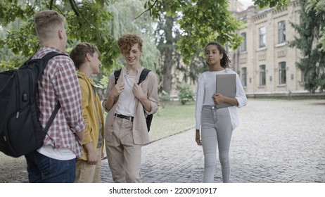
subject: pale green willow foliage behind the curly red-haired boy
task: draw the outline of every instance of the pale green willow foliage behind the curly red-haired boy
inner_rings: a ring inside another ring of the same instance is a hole
[[[146,0],[115,0],[114,4],[108,7],[108,11],[113,17],[108,21],[107,30],[114,39],[118,39],[122,34],[139,34],[144,40],[144,53],[141,56],[141,65],[153,71],[159,68],[160,51],[155,45],[153,19],[145,13],[136,18],[144,11]],[[136,19],[135,19],[136,18]],[[124,64],[124,58],[117,59],[119,65]]]

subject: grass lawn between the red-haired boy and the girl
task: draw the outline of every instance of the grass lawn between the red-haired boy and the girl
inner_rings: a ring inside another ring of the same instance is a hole
[[[170,101],[165,108],[160,106],[158,112],[153,115],[149,132],[151,141],[195,127],[194,113],[194,102],[181,105],[179,101]]]

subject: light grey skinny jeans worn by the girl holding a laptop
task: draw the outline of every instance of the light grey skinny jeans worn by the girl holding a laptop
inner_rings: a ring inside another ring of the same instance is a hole
[[[212,106],[203,106],[201,140],[204,153],[204,183],[214,182],[217,145],[222,181],[224,183],[230,182],[229,147],[232,132],[228,108],[216,109]]]

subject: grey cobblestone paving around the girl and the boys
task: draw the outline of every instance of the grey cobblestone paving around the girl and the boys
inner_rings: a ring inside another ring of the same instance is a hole
[[[250,99],[238,113],[241,125],[229,153],[231,182],[325,182],[325,101]],[[194,138],[189,129],[144,146],[143,182],[201,182],[203,151]],[[218,163],[215,182],[222,182],[220,177]],[[113,182],[107,160],[101,182]]]

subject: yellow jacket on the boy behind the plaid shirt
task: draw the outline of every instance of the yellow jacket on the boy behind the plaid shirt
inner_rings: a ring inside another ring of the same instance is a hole
[[[94,82],[82,72],[77,72],[79,78],[80,89],[82,91],[82,116],[86,129],[84,129],[84,141],[82,145],[92,142],[94,149],[97,149],[99,134],[104,139],[104,121],[103,121],[103,108],[101,101],[94,91]],[[99,131],[99,120],[101,120],[101,131]],[[104,140],[103,140],[104,144]],[[103,153],[103,145],[101,151]],[[87,150],[82,146],[84,154],[78,159],[87,160]]]

